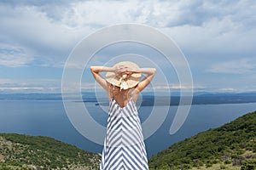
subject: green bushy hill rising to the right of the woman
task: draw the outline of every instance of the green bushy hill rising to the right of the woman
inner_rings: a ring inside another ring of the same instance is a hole
[[[256,169],[256,111],[184,139],[149,160],[150,169]]]

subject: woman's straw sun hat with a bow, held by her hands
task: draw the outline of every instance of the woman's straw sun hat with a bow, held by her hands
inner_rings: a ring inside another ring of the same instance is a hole
[[[139,69],[139,66],[131,61],[122,61],[113,65],[113,67],[121,65],[135,70]],[[114,72],[107,72],[105,79],[114,86],[120,87],[120,89],[128,89],[135,87],[137,83],[140,82],[141,77],[141,73],[133,73],[128,77],[127,75],[123,75],[123,77],[116,77]]]

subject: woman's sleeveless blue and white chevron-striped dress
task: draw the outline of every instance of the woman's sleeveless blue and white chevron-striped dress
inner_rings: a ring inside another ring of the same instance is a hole
[[[148,170],[141,122],[133,99],[125,107],[111,99],[100,169]]]

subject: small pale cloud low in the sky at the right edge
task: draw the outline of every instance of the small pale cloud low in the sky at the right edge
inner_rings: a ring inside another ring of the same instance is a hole
[[[256,62],[251,59],[225,61],[212,65],[208,72],[225,74],[246,74],[256,72]]]

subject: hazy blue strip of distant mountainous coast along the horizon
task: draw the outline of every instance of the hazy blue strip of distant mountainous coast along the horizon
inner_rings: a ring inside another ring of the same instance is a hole
[[[96,105],[108,105],[107,95],[104,93],[83,92],[82,94],[63,94],[65,99],[75,102],[94,102]],[[81,98],[82,97],[82,98]],[[61,100],[62,94],[0,94],[0,100]],[[142,105],[190,105],[189,97],[183,96],[183,103],[180,103],[180,96],[164,95],[162,93],[143,92]],[[171,99],[171,103],[167,103]],[[192,105],[218,105],[218,104],[239,104],[255,103],[256,93],[200,93],[193,96]]]

